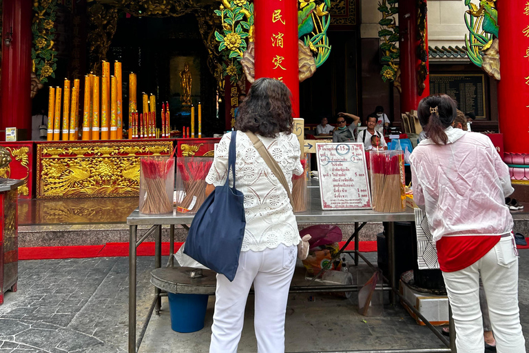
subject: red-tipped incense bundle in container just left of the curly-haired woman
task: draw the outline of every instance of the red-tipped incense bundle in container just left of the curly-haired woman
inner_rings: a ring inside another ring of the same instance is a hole
[[[189,212],[198,210],[206,199],[206,177],[211,168],[211,159],[182,158],[178,159],[176,165],[180,180],[183,183],[185,196],[178,203],[178,212]]]

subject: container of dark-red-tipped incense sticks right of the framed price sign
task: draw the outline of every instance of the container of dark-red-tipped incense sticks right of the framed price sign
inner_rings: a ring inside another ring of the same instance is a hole
[[[404,154],[402,151],[370,151],[371,193],[373,210],[377,212],[404,212]]]

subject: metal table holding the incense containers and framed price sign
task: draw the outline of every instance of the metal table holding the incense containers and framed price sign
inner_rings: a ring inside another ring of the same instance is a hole
[[[312,185],[311,185],[312,184]],[[347,245],[353,240],[355,241],[355,250],[351,251],[351,253],[354,253],[354,261],[355,265],[358,264],[359,257],[362,258],[368,265],[374,268],[371,263],[362,255],[360,252],[357,251],[358,245],[359,245],[359,239],[358,234],[362,227],[368,223],[368,222],[383,222],[385,223],[385,229],[386,229],[386,235],[388,237],[388,272],[389,272],[389,279],[384,280],[388,282],[390,288],[388,290],[391,290],[391,302],[393,304],[396,303],[397,296],[400,297],[401,301],[404,301],[408,307],[410,307],[417,316],[419,316],[420,319],[428,326],[433,333],[447,346],[446,348],[439,348],[439,349],[410,349],[410,350],[369,350],[369,351],[347,351],[347,352],[370,352],[370,353],[376,353],[376,352],[415,352],[415,353],[448,353],[448,352],[455,352],[455,335],[450,335],[450,342],[442,336],[442,334],[435,328],[431,323],[429,323],[422,314],[420,314],[417,310],[415,310],[415,307],[412,303],[409,303],[404,299],[402,296],[400,296],[400,293],[398,292],[397,284],[398,279],[395,274],[395,225],[394,222],[396,221],[415,221],[415,214],[413,210],[410,208],[406,208],[405,212],[401,213],[380,213],[380,212],[374,212],[373,210],[336,210],[336,211],[323,211],[321,208],[321,201],[320,201],[320,191],[317,186],[314,186],[314,183],[309,184],[308,191],[308,197],[307,197],[307,211],[301,212],[298,214],[295,214],[296,220],[298,221],[298,224],[353,224],[355,225],[355,231],[353,234],[349,237],[349,240],[346,241],[344,246],[342,246],[342,249],[340,249],[340,252],[344,252],[344,249]],[[529,219],[529,213],[527,212],[514,212],[512,214],[513,219]],[[160,305],[161,305],[161,296],[167,295],[167,293],[162,293],[160,288],[163,288],[164,290],[173,289],[180,292],[180,290],[176,288],[183,288],[182,285],[180,287],[178,286],[178,279],[175,279],[174,283],[169,283],[169,288],[164,287],[159,281],[158,281],[158,287],[155,288],[155,298],[152,302],[151,307],[149,308],[149,312],[147,314],[147,320],[145,321],[145,324],[143,325],[143,329],[141,330],[140,337],[138,341],[136,341],[136,248],[138,248],[138,245],[140,245],[149,235],[154,234],[155,236],[155,256],[154,256],[154,263],[155,268],[161,268],[161,228],[162,225],[170,225],[170,244],[169,244],[169,261],[167,263],[167,266],[172,266],[174,263],[174,226],[175,225],[182,225],[184,228],[189,229],[187,225],[191,224],[193,221],[194,214],[180,214],[176,211],[173,212],[173,214],[165,214],[165,215],[145,215],[140,214],[138,210],[135,210],[130,214],[130,216],[127,217],[127,224],[129,225],[129,345],[128,345],[128,352],[129,353],[136,353],[139,350],[139,347],[141,345],[141,341],[143,339],[143,335],[145,334],[145,330],[147,330],[147,325],[149,323],[150,317],[152,316],[152,312],[156,310],[156,313],[158,314],[160,311]],[[360,224],[361,223],[361,224]],[[137,230],[138,225],[152,225],[151,228],[141,237],[141,239],[137,239]],[[163,270],[159,270],[163,271]],[[157,272],[161,274],[161,272]],[[211,277],[211,274],[208,273],[208,276]],[[152,282],[154,283],[156,280],[156,274],[153,275]],[[181,282],[180,282],[181,284]],[[197,283],[198,284],[198,283]],[[311,283],[312,284],[312,283]],[[208,284],[211,286],[211,284]],[[185,285],[185,292],[194,292],[189,285]],[[200,288],[200,285],[197,285],[197,290]],[[322,285],[319,283],[315,283],[315,285],[300,285],[298,287],[293,286],[291,287],[291,292],[311,292],[311,291],[322,291],[325,292],[338,292],[338,291],[351,291],[356,290],[357,285],[335,285],[332,286],[332,288],[329,288],[329,286],[325,286],[324,289],[322,289]],[[211,292],[212,288],[201,288],[200,290],[205,290],[207,292]],[[380,288],[384,290],[385,288]],[[199,291],[200,291],[199,290]],[[170,292],[170,290],[169,290]],[[213,291],[214,292],[214,291]],[[452,316],[450,313],[450,330],[452,332],[455,332],[455,328],[453,327],[453,321]],[[452,349],[450,349],[450,347]],[[339,353],[339,352],[335,352]]]

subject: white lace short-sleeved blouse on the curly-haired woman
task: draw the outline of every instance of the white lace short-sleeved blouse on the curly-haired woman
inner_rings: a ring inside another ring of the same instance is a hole
[[[280,165],[292,190],[292,174],[303,172],[298,138],[295,134],[280,133],[275,139],[261,136],[259,139]],[[220,140],[207,183],[214,186],[225,183],[230,141],[231,132]],[[245,195],[246,228],[241,251],[298,245],[300,234],[287,191],[244,132],[237,132],[236,152],[235,186]],[[229,178],[233,185],[231,173]]]

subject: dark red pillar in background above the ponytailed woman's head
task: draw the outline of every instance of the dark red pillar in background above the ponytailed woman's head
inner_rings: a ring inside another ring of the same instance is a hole
[[[430,95],[429,77],[426,76],[426,88],[419,94],[418,70],[421,60],[417,57],[419,46],[419,29],[417,28],[417,1],[402,0],[399,2],[399,30],[400,30],[400,80],[402,93],[400,95],[400,110],[402,113],[417,110],[419,101]],[[427,26],[426,26],[427,28]],[[428,30],[425,29],[426,52],[428,52]],[[428,57],[428,55],[426,55]],[[428,59],[426,60],[428,68]]]

